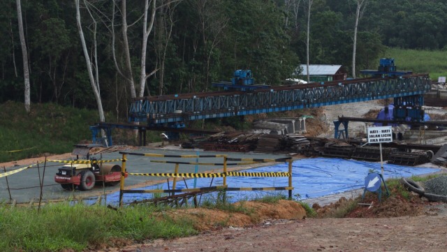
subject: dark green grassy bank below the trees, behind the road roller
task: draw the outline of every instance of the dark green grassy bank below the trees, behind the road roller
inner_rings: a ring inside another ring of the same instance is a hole
[[[32,104],[27,114],[23,103],[9,101],[0,104],[0,118],[0,162],[5,162],[70,152],[73,144],[91,140],[89,126],[98,112],[47,103]]]

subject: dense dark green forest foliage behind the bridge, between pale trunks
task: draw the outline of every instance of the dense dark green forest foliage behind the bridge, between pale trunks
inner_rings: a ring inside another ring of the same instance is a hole
[[[105,110],[125,116],[130,99],[123,75],[126,44],[122,1],[80,1],[82,29],[94,51]],[[170,3],[169,3],[170,2]],[[145,95],[211,89],[249,68],[256,82],[277,85],[306,61],[309,0],[156,0],[154,28],[147,43]],[[127,37],[133,77],[138,83],[144,1],[127,1]],[[342,64],[350,73],[356,0],[314,0],[311,8],[310,63]],[[445,50],[447,3],[441,0],[369,0],[358,27],[357,67],[376,68],[386,46]],[[22,0],[29,48],[31,102],[96,108],[91,91],[74,1]],[[150,13],[149,13],[150,16]],[[150,17],[149,17],[150,18]],[[23,101],[22,52],[15,0],[0,9],[0,103]],[[115,32],[115,40],[112,39]],[[117,71],[113,61],[115,49]],[[96,69],[94,69],[96,70]],[[31,106],[32,107],[32,106]]]

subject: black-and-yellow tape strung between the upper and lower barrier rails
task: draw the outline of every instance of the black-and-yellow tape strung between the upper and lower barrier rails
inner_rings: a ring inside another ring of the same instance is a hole
[[[226,173],[129,173],[147,177],[288,177],[288,172],[226,172]]]

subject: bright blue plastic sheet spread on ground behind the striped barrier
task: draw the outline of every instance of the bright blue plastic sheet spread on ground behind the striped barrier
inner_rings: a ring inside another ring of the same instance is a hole
[[[384,179],[411,177],[413,175],[424,175],[438,172],[436,168],[415,168],[402,165],[383,164]],[[380,163],[366,161],[345,160],[341,158],[306,158],[293,162],[293,198],[306,199],[318,198],[325,195],[351,191],[365,186],[365,177],[370,171],[381,172]],[[288,163],[266,166],[245,170],[247,172],[288,172]],[[186,183],[186,184],[185,184]],[[193,179],[177,180],[177,189],[193,188]],[[220,186],[223,184],[221,178],[197,179],[197,187]],[[288,177],[227,177],[228,187],[272,187],[288,186]],[[172,188],[172,182],[170,183]],[[167,183],[147,186],[139,189],[168,189]],[[288,195],[287,191],[230,191],[227,197],[230,201],[250,200],[261,198],[264,195]],[[152,198],[152,193],[124,194],[124,202],[133,200],[144,200]],[[205,196],[204,196],[205,197]],[[215,198],[217,194],[207,195]],[[107,203],[117,205],[119,193],[107,196]]]

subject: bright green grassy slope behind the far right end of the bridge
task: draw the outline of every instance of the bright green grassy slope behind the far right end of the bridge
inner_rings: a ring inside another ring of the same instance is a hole
[[[394,58],[397,71],[429,73],[432,80],[438,80],[439,76],[447,76],[447,51],[388,48],[381,57]]]

